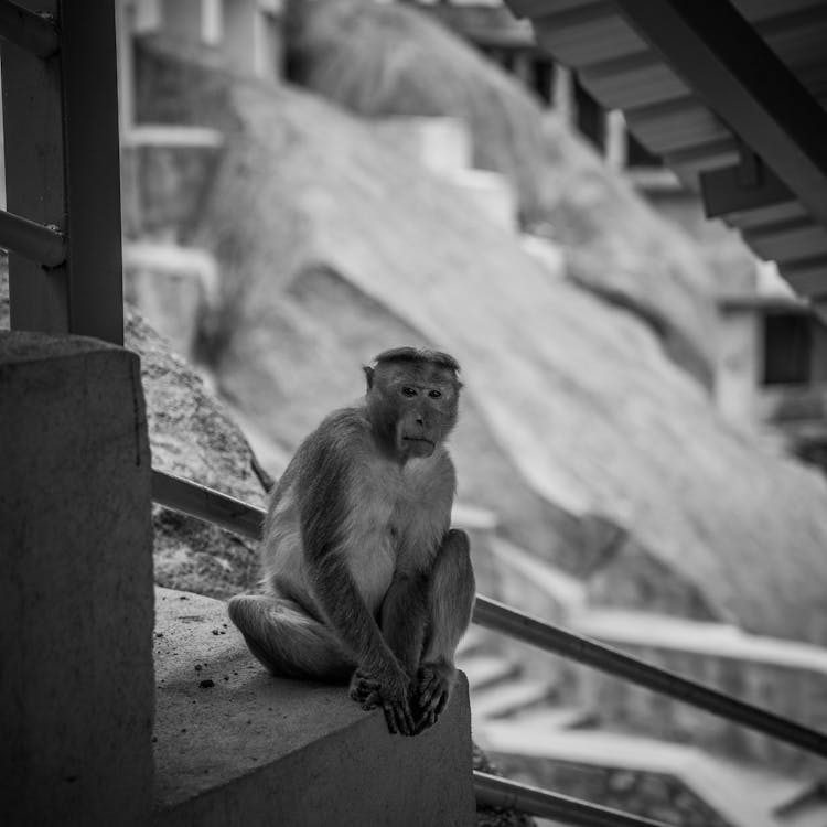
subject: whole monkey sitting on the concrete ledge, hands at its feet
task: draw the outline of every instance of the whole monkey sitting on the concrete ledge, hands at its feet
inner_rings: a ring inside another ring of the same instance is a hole
[[[364,398],[304,439],[271,492],[265,593],[228,614],[271,674],[350,681],[391,734],[415,735],[448,705],[475,595],[468,535],[450,527],[460,366],[396,347],[363,369]]]

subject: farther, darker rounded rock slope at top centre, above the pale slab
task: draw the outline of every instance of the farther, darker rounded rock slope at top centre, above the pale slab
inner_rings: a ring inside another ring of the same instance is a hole
[[[452,116],[477,167],[514,185],[523,225],[563,245],[578,283],[649,323],[672,358],[711,378],[715,307],[702,256],[512,77],[416,8],[294,2],[297,83],[368,118]]]

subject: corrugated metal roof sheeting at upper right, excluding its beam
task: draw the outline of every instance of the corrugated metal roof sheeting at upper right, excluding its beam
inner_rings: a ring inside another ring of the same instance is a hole
[[[649,0],[647,0],[648,2]],[[611,0],[506,0],[534,23],[538,43],[577,71],[606,109],[621,109],[630,131],[698,189],[702,172],[732,167],[754,135],[735,135],[647,42]],[[733,0],[753,31],[827,108],[827,0]],[[827,142],[827,135],[824,135]],[[793,287],[827,310],[827,227],[796,197],[722,216]],[[808,195],[813,207],[812,192]],[[807,201],[807,197],[804,198]],[[824,191],[827,204],[827,187]],[[816,214],[824,212],[816,208]]]

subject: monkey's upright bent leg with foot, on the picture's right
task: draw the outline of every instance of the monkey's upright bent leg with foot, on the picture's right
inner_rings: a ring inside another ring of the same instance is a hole
[[[451,529],[431,573],[428,636],[417,674],[417,730],[433,726],[457,680],[454,653],[471,622],[476,583],[468,535]]]

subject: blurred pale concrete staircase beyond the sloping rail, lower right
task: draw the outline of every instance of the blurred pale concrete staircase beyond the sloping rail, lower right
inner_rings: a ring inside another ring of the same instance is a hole
[[[523,572],[528,611],[576,632],[704,683],[738,674],[738,694],[765,707],[816,698],[816,686],[824,686],[827,652],[818,647],[726,624],[590,606],[554,567],[498,538],[487,547],[507,569],[498,580],[511,591],[500,599],[518,602],[515,572]],[[538,590],[546,592],[545,609]],[[460,644],[458,665],[469,678],[474,740],[507,776],[670,824],[827,826],[823,773],[814,774],[813,764],[793,771],[801,753],[577,664],[558,663],[544,672],[547,662],[558,658],[520,649],[479,627]],[[818,726],[817,710],[780,711],[799,720],[815,715],[812,726]],[[716,744],[713,752],[699,745],[707,742]],[[726,758],[728,743],[739,744],[749,758]]]

